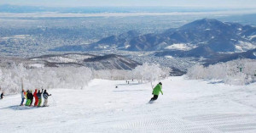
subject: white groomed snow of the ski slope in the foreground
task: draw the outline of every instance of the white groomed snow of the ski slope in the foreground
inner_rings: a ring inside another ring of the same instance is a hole
[[[256,132],[256,84],[183,76],[161,82],[164,95],[154,103],[150,83],[131,80],[51,89],[46,108],[20,107],[20,94],[9,95],[0,100],[0,132]]]

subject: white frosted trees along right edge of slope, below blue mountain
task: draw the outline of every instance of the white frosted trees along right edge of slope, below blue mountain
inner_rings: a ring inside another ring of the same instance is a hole
[[[256,60],[236,59],[204,67],[197,64],[189,69],[189,79],[223,80],[230,85],[247,85],[256,81]]]

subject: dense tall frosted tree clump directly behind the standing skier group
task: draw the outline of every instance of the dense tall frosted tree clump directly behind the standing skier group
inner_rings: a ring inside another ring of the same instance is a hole
[[[26,69],[23,64],[19,64],[12,69],[2,68],[0,76],[2,91],[14,93],[21,90],[21,80],[25,90],[42,87],[82,89],[92,80],[92,71],[86,67]]]

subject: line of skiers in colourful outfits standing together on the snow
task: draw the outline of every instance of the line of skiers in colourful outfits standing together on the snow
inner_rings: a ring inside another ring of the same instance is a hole
[[[20,106],[24,106],[23,103],[26,99],[25,106],[40,107],[41,103],[42,103],[42,94],[43,94],[43,97],[44,97],[43,107],[46,107],[46,106],[48,106],[48,97],[51,96],[51,94],[49,94],[46,90],[42,89],[42,91],[40,91],[40,90],[36,89],[34,91],[34,93],[32,93],[31,90],[24,91],[24,89],[22,89]],[[35,99],[35,102],[32,105],[33,99]]]

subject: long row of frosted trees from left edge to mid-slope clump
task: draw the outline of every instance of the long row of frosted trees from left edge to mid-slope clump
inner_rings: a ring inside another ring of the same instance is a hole
[[[70,88],[83,89],[90,80],[138,80],[154,81],[166,78],[172,69],[160,68],[159,64],[143,64],[132,70],[102,69],[94,70],[86,67],[36,68],[30,69],[24,64],[12,68],[0,69],[0,86],[6,93],[36,88]]]

